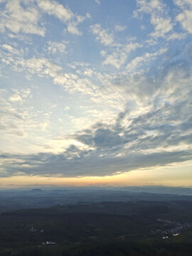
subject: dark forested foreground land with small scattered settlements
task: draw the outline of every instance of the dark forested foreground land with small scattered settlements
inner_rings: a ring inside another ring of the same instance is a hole
[[[3,255],[192,255],[192,201],[84,203],[0,216]]]

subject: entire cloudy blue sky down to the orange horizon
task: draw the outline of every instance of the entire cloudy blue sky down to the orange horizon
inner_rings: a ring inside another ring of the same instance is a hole
[[[0,186],[192,186],[191,0],[0,0]]]

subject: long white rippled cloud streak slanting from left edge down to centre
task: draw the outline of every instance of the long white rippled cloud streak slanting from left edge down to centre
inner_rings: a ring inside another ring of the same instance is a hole
[[[122,99],[119,100],[119,96],[114,99],[113,89],[107,88],[105,83],[105,76],[96,73],[91,68],[87,68],[87,63],[73,63],[74,68],[80,67],[81,70],[75,70],[75,72],[65,73],[60,65],[53,63],[48,58],[21,58],[13,55],[6,55],[2,59],[6,65],[11,66],[13,70],[17,72],[23,72],[29,78],[32,75],[38,75],[40,77],[51,78],[56,85],[61,85],[66,92],[75,93],[79,92],[82,95],[91,95],[90,100],[92,102],[105,102],[114,107],[120,107]],[[79,72],[78,72],[79,71]],[[108,78],[107,78],[108,79]],[[100,90],[100,85],[105,85]]]

